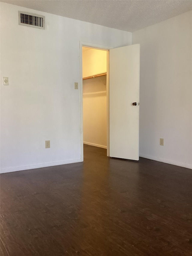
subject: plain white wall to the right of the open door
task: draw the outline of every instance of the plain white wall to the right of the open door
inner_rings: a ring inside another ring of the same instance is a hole
[[[140,44],[140,156],[192,167],[192,12],[132,34]],[[164,146],[159,145],[164,138]]]

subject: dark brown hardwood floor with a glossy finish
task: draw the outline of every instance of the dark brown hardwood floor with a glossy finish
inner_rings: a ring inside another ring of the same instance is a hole
[[[84,146],[84,162],[1,174],[1,256],[192,255],[192,170]]]

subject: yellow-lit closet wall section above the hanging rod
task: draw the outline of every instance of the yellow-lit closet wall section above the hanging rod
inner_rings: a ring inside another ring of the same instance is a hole
[[[107,72],[107,52],[91,48],[83,51],[82,72],[83,77]]]

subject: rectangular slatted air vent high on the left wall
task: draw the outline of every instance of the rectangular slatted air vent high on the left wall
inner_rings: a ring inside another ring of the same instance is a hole
[[[45,29],[45,16],[19,11],[19,25]]]

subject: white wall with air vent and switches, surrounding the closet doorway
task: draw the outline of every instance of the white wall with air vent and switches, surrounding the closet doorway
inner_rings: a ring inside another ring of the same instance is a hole
[[[1,172],[81,161],[79,41],[120,47],[131,33],[0,5]],[[18,11],[44,15],[46,29],[19,26]]]

